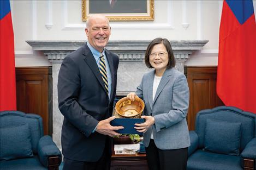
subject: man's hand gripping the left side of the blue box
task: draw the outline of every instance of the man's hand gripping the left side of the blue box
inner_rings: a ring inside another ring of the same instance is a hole
[[[111,137],[113,136],[119,136],[121,134],[119,133],[116,133],[115,130],[120,130],[120,129],[123,129],[123,127],[113,127],[110,125],[110,122],[112,120],[114,120],[116,117],[115,116],[112,116],[110,118],[107,118],[103,121],[99,121],[98,125],[97,125],[97,128],[96,128],[96,131],[100,134],[103,134],[103,135],[109,135]]]

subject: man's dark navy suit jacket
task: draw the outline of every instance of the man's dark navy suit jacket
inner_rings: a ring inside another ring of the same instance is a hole
[[[92,133],[99,121],[112,114],[116,95],[119,58],[105,49],[112,84],[110,99],[96,60],[87,45],[64,58],[58,75],[59,110],[64,115],[62,125],[62,153],[77,161],[99,160],[106,135]]]

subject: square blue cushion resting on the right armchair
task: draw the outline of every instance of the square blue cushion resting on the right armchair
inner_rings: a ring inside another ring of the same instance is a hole
[[[214,153],[239,155],[241,123],[207,119],[205,150]]]

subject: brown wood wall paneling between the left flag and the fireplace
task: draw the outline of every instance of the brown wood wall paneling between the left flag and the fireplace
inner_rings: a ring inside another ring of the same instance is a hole
[[[51,67],[16,67],[17,110],[40,115],[45,135],[52,134],[51,74]]]

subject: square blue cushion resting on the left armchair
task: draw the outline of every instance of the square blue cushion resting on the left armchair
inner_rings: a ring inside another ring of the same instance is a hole
[[[28,123],[0,128],[0,161],[33,156]]]

